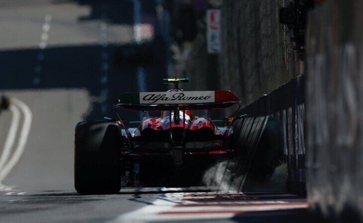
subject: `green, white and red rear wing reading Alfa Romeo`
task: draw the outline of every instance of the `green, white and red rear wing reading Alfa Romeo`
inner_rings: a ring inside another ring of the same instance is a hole
[[[114,108],[136,111],[223,109],[241,101],[230,91],[173,91],[124,93]]]

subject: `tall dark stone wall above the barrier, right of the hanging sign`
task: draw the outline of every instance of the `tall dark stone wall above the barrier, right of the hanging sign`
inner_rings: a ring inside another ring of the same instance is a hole
[[[278,9],[290,0],[224,0],[220,85],[244,105],[301,74]]]

